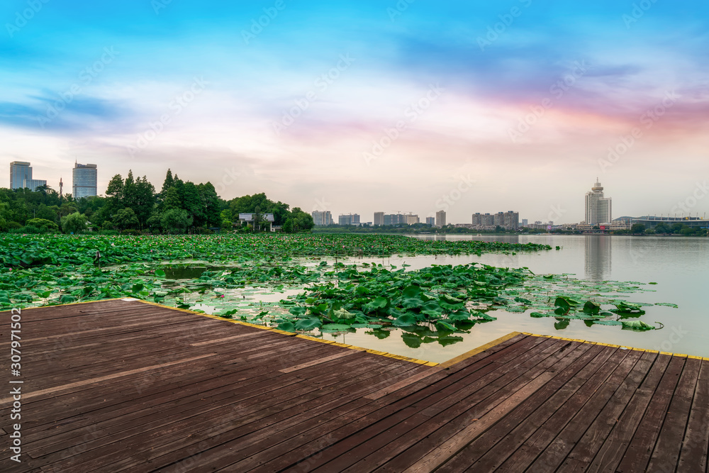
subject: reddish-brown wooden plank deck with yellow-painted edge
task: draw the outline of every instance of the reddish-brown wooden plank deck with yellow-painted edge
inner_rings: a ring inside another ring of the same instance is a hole
[[[707,471],[697,357],[511,334],[426,364],[135,300],[28,309],[21,335],[2,472]]]

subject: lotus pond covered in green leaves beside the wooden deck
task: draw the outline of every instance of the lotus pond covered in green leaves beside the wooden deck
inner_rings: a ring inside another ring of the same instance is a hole
[[[663,327],[646,320],[651,306],[676,308],[629,299],[654,291],[652,282],[479,262],[564,252],[544,243],[346,234],[3,235],[0,242],[2,308],[134,297],[423,359],[432,356],[417,354],[420,347],[466,345],[499,316],[502,333],[530,319],[548,321],[549,330],[581,323],[644,333]],[[460,264],[445,264],[449,257]],[[449,347],[439,358],[473,347]]]

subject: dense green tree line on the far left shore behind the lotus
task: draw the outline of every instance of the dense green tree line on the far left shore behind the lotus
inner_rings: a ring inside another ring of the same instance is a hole
[[[239,213],[255,213],[255,223],[239,225]],[[298,207],[290,210],[264,193],[225,201],[210,182],[185,182],[170,169],[159,192],[147,177],[133,177],[132,170],[125,179],[113,176],[105,196],[77,200],[49,186],[35,191],[0,188],[0,231],[21,233],[205,233],[211,228],[247,232],[264,230],[266,213],[273,213],[274,225],[286,232],[313,228],[313,218]]]

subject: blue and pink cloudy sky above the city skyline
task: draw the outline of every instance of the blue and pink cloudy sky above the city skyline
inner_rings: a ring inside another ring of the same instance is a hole
[[[305,211],[709,213],[709,4],[5,0],[0,164]],[[9,187],[9,172],[0,187]],[[70,190],[69,190],[70,191]]]

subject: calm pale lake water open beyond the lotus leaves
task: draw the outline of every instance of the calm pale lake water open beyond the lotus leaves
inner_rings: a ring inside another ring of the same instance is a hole
[[[432,362],[449,360],[513,331],[709,357],[709,311],[706,308],[706,295],[709,292],[709,238],[623,235],[420,235],[418,238],[543,243],[552,247],[558,245],[562,249],[480,257],[360,258],[352,262],[397,266],[406,262],[411,265],[408,269],[480,262],[498,267],[528,267],[535,274],[571,273],[579,279],[592,281],[657,282],[657,285],[642,286],[654,292],[629,294],[627,300],[650,304],[669,302],[678,304],[679,308],[644,307],[646,313],[639,320],[652,325],[659,322],[664,324],[664,328],[643,332],[621,330],[617,325],[588,327],[580,320],[572,320],[563,330],[556,330],[554,318],[532,318],[529,316],[530,311],[507,313],[496,310],[490,314],[496,316],[497,321],[476,324],[469,334],[461,334],[464,338],[462,342],[454,345],[427,343],[418,348],[408,347],[403,343],[401,330],[393,331],[383,340],[366,335],[364,332],[367,330],[364,329],[338,336],[325,334],[325,339]]]

